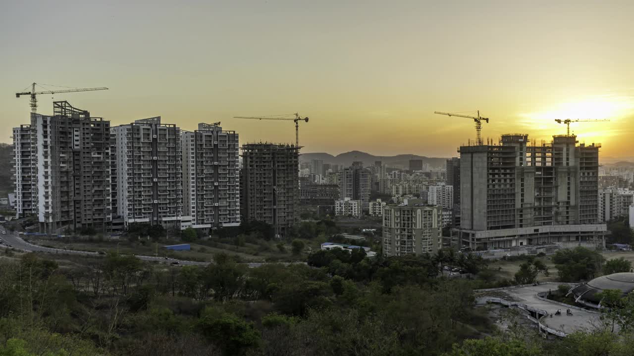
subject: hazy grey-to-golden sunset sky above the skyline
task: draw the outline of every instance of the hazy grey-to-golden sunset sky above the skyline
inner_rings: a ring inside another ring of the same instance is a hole
[[[304,152],[456,156],[482,136],[565,134],[634,156],[634,1],[4,1],[0,142],[29,123],[31,82],[108,91],[42,94],[112,125],[161,116],[222,122],[240,141]]]

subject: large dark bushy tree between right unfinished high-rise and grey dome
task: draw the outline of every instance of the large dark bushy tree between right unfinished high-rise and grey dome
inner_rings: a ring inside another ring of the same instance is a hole
[[[605,259],[597,251],[585,247],[558,250],[552,257],[562,282],[592,279],[602,269]]]

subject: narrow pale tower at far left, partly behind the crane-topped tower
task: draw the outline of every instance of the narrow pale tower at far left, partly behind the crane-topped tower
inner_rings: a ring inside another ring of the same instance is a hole
[[[13,181],[15,182],[16,218],[37,212],[34,194],[37,175],[34,174],[36,160],[31,146],[30,125],[13,128]]]

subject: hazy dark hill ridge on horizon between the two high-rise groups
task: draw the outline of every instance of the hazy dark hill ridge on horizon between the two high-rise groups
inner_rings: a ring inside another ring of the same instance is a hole
[[[354,161],[363,162],[364,166],[373,165],[375,161],[381,161],[382,163],[390,166],[401,166],[406,168],[410,164],[410,160],[423,160],[423,163],[427,163],[430,167],[441,167],[447,160],[447,158],[441,157],[426,157],[418,155],[396,155],[396,156],[375,156],[370,153],[361,151],[350,151],[341,153],[340,155],[333,156],[329,153],[302,153],[299,157],[302,162],[309,162],[310,160],[323,160],[324,163],[333,163],[338,165],[351,165]]]

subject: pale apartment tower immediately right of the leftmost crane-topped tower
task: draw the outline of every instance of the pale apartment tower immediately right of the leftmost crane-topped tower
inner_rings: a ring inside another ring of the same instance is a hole
[[[181,229],[183,173],[181,132],[160,117],[110,129],[113,212],[124,225],[146,223]],[[188,221],[188,217],[184,218]]]

